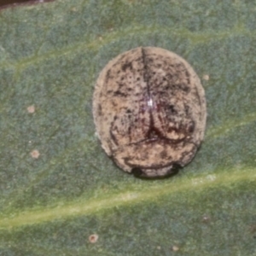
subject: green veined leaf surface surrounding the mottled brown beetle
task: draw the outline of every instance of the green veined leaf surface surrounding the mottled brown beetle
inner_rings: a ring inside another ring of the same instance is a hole
[[[253,1],[59,0],[0,25],[1,255],[256,255]],[[96,78],[137,46],[183,56],[206,90],[175,177],[120,171],[95,136]]]

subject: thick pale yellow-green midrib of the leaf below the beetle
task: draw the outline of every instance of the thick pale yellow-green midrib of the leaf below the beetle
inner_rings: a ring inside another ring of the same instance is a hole
[[[240,169],[241,170],[241,169]],[[256,168],[243,168],[242,172],[236,169],[229,172],[218,172],[205,176],[201,174],[197,177],[178,179],[176,183],[143,184],[140,189],[126,188],[117,194],[116,190],[97,192],[96,197],[89,200],[80,198],[79,201],[69,201],[60,203],[60,207],[39,207],[20,212],[15,217],[0,218],[0,229],[13,229],[24,225],[41,224],[53,221],[57,218],[74,218],[81,215],[96,214],[114,207],[127,207],[130,205],[147,203],[159,197],[168,195],[176,196],[180,192],[188,190],[209,189],[219,186],[229,186],[232,183],[241,181],[253,182],[256,180]]]

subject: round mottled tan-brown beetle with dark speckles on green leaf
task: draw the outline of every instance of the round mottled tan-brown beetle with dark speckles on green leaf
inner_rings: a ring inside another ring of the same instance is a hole
[[[166,49],[140,47],[103,68],[93,115],[102,148],[120,168],[163,177],[193,159],[204,137],[207,107],[187,61]]]

